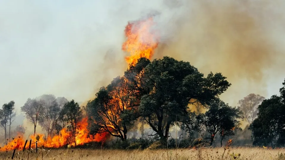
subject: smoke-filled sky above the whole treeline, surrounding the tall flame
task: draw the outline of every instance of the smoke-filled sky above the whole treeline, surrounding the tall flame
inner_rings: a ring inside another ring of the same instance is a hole
[[[236,105],[278,94],[285,77],[282,0],[0,1],[0,104],[42,94],[85,102],[127,68],[124,27],[150,12],[169,55],[221,72]],[[28,124],[27,124],[28,125]]]

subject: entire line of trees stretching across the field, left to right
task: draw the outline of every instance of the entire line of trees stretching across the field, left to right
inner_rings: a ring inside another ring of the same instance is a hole
[[[165,143],[169,140],[170,129],[177,125],[190,137],[195,134],[201,138],[200,142],[209,145],[219,137],[222,146],[223,140],[242,130],[241,121],[245,120],[250,124],[253,145],[284,146],[284,87],[280,89],[280,96],[265,100],[265,97],[250,94],[240,100],[237,107],[232,107],[219,99],[230,86],[221,73],[210,72],[204,76],[189,62],[171,57],[152,62],[141,58],[129,66],[124,76],[101,87],[85,107],[80,108],[74,100],[64,97],[42,95],[29,98],[21,111],[34,124],[34,133],[40,125],[51,137],[59,135],[64,127],[75,137],[78,122],[85,112],[90,134],[108,132],[120,139],[121,143],[117,144],[121,145],[130,142],[127,133],[134,125],[142,123],[150,126],[154,134],[148,135],[153,137],[150,139],[138,139],[140,144],[144,140],[144,144],[157,140]],[[13,101],[4,104],[0,112],[5,139],[6,128],[11,124],[9,117],[13,119],[7,115],[14,113],[14,109],[7,108],[13,108],[14,104]],[[191,110],[193,107],[195,111]],[[190,139],[186,138],[183,143]]]

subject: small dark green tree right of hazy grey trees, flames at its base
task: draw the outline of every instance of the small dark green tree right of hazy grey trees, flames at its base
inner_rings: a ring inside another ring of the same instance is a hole
[[[67,102],[62,108],[60,116],[62,121],[67,123],[68,129],[71,130],[72,135],[74,137],[74,143],[76,145],[75,136],[77,134],[77,129],[79,127],[78,122],[82,118],[82,110],[79,104],[75,103],[74,100]]]

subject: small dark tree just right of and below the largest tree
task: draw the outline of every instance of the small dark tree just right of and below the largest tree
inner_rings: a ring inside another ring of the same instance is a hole
[[[234,129],[241,129],[238,119],[243,118],[243,112],[239,108],[232,108],[221,100],[213,101],[205,114],[197,116],[202,127],[210,134],[210,145],[213,144],[216,134],[220,133],[221,146],[224,137],[234,135]]]

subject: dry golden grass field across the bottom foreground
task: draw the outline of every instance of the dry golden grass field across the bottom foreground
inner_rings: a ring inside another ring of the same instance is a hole
[[[13,151],[1,152],[0,159],[11,159]],[[176,154],[177,153],[177,154]],[[283,155],[281,154],[283,153]],[[51,149],[29,153],[29,159],[37,160],[285,160],[285,148],[201,148],[177,150],[94,150],[94,149]],[[278,156],[279,154],[279,156]],[[37,157],[38,156],[38,157]],[[14,159],[28,159],[28,152],[16,151]]]

